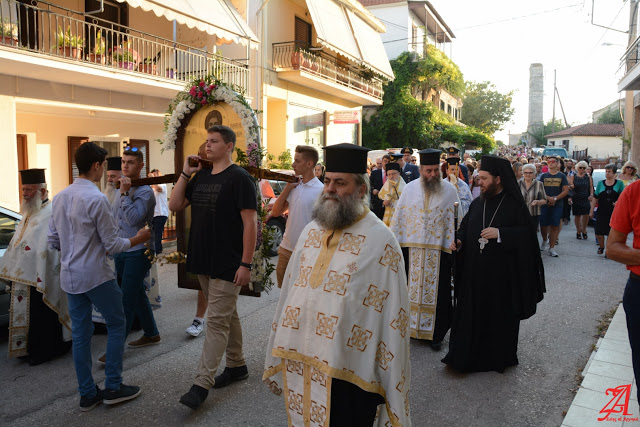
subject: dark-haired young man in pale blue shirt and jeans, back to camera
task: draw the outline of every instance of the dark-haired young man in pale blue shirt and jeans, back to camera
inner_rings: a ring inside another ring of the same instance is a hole
[[[106,255],[142,244],[151,234],[141,229],[131,238],[118,237],[107,196],[94,184],[104,174],[106,155],[105,149],[92,142],[76,150],[79,176],[53,199],[49,221],[48,241],[60,250],[60,286],[69,301],[81,411],[93,409],[103,400],[105,404],[115,404],[140,394],[140,387],[122,384],[126,322],[122,291],[113,279]],[[104,392],[91,375],[92,304],[104,316],[109,330]]]

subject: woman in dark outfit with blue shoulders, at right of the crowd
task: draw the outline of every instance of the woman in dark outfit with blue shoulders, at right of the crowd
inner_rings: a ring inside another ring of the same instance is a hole
[[[616,179],[616,164],[609,163],[604,167],[604,181],[598,183],[596,191],[591,201],[591,212],[589,216],[593,218],[596,202],[598,203],[598,215],[596,216],[596,238],[598,239],[598,254],[604,252],[604,236],[609,235],[609,221],[613,208],[620,197],[620,193],[624,190],[622,181]]]

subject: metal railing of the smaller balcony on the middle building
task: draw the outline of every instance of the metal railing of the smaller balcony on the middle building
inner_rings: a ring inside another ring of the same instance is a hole
[[[318,48],[301,47],[300,42],[273,44],[273,67],[277,71],[302,70],[382,99],[382,80],[372,70],[356,70]],[[369,74],[369,76],[367,76]]]

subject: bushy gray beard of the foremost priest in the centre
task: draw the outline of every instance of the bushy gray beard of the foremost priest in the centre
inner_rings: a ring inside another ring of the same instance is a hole
[[[322,193],[313,204],[311,216],[328,230],[346,228],[355,223],[364,212],[364,204],[358,191],[340,197]]]

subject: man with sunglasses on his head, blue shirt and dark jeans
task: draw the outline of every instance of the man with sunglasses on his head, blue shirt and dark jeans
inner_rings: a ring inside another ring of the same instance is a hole
[[[113,213],[118,224],[118,236],[128,238],[153,222],[156,198],[148,185],[131,187],[131,180],[140,178],[144,167],[142,152],[137,148],[127,148],[122,154],[122,175],[120,197],[116,197]],[[149,242],[154,250],[153,240]],[[140,348],[160,342],[160,333],[153,317],[149,298],[144,291],[144,278],[149,274],[151,263],[145,255],[143,244],[132,246],[115,256],[118,282],[122,287],[122,304],[127,318],[127,334],[131,332],[134,318],[138,317],[144,335],[129,342],[131,348]]]

